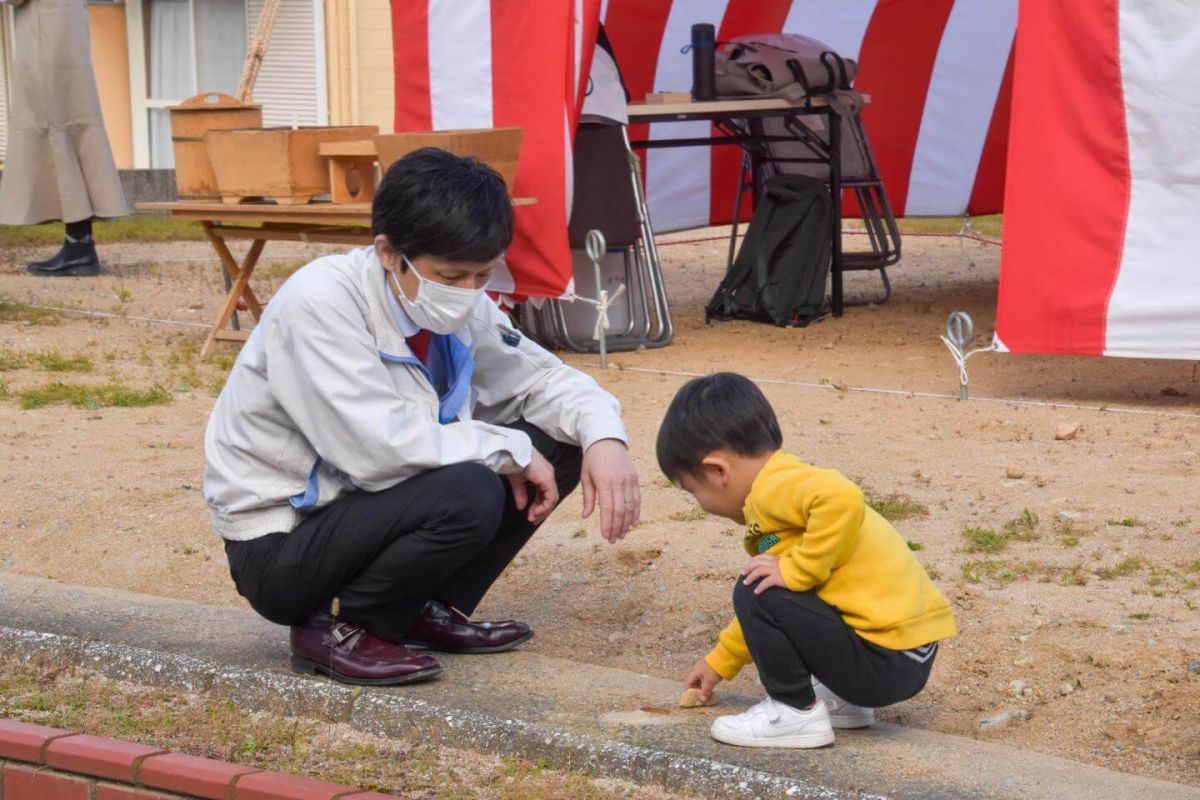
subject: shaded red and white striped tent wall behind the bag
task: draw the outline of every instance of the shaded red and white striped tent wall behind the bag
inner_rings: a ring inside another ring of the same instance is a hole
[[[854,86],[871,96],[863,120],[898,216],[1001,210],[1016,0],[607,0],[601,16],[635,100],[690,89],[680,48],[694,23],[714,24],[719,41],[778,31],[822,41],[859,62]],[[710,130],[668,122],[630,133]],[[730,222],[738,164],[727,146],[712,148],[707,169],[691,148],[649,151],[655,229]]]

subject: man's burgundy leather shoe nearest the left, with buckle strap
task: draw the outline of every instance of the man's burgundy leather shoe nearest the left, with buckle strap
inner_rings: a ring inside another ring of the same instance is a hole
[[[292,626],[292,669],[343,684],[391,686],[428,680],[442,672],[442,664],[358,625],[335,625],[328,614],[314,614],[304,625]]]

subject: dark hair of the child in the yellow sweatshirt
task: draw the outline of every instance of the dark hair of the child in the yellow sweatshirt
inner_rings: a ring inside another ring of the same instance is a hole
[[[749,378],[732,372],[684,384],[662,419],[656,446],[659,469],[670,480],[701,474],[714,450],[740,456],[774,452],[784,445],[770,403]]]

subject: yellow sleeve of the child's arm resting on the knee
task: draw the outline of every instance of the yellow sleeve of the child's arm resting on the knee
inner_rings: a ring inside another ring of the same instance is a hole
[[[796,488],[794,501],[774,521],[780,528],[804,528],[800,542],[782,554],[784,585],[809,591],[829,579],[844,552],[863,527],[863,491],[834,470],[821,470]],[[773,509],[774,511],[774,509]]]

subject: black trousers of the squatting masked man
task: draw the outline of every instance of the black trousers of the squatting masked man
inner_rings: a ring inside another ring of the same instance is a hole
[[[582,452],[527,422],[554,465],[560,498],[580,482]],[[530,499],[532,501],[532,499]],[[340,619],[400,642],[430,600],[464,614],[533,536],[508,480],[481,464],[454,464],[383,492],[352,492],[290,533],[226,542],[238,591],[259,614],[298,625],[330,607]]]

